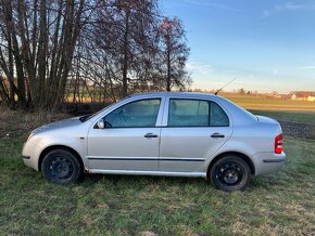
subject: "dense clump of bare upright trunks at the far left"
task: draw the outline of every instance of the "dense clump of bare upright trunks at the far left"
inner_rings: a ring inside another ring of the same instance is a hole
[[[85,0],[0,2],[0,67],[11,103],[15,94],[21,105],[27,100],[36,108],[63,100],[85,5]]]

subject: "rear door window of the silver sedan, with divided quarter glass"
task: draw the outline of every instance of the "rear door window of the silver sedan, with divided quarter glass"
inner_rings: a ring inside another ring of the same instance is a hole
[[[225,112],[214,102],[169,100],[168,127],[228,127]]]

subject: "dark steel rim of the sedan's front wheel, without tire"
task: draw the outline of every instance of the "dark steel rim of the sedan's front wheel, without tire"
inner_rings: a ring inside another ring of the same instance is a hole
[[[67,179],[73,173],[73,165],[66,157],[55,157],[50,162],[49,171],[56,179]]]

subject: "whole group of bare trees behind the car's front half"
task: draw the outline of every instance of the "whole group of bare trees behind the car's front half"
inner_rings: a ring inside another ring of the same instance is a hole
[[[0,96],[53,109],[72,97],[115,101],[185,89],[189,48],[159,0],[0,0]]]

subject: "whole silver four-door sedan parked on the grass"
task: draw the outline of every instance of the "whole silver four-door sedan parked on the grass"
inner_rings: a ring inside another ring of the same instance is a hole
[[[229,192],[277,171],[286,155],[276,120],[218,95],[169,92],[40,127],[22,157],[53,183],[74,183],[86,171],[204,178]]]

